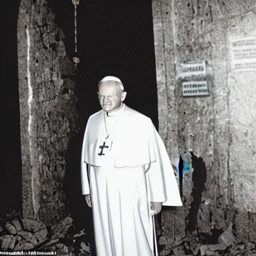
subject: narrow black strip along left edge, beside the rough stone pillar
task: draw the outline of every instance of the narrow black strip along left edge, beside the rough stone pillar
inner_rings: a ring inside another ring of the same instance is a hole
[[[0,169],[0,222],[18,215],[21,209],[21,152],[19,134],[18,64],[17,64],[17,18],[20,0],[11,2],[2,14],[7,26],[6,69],[2,69],[6,82],[3,86],[4,107],[1,120],[4,128],[1,142],[4,155]],[[4,49],[5,50],[5,49]],[[0,223],[1,224],[1,223]]]

